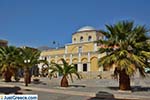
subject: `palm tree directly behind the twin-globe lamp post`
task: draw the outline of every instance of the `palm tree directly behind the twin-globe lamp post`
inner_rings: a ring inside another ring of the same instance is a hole
[[[20,48],[20,56],[18,57],[18,64],[24,69],[25,85],[31,83],[30,69],[40,63],[40,51],[32,48]]]

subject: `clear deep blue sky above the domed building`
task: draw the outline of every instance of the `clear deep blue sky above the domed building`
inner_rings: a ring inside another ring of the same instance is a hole
[[[71,42],[85,25],[134,20],[150,28],[150,0],[0,0],[0,39],[15,46],[53,46]]]

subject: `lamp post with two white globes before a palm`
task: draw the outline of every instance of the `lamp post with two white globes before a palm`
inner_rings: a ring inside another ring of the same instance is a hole
[[[24,69],[24,82],[25,82],[25,86],[28,86],[28,83],[29,83],[29,63],[30,63],[30,60],[24,60],[24,63],[25,63],[25,69]]]

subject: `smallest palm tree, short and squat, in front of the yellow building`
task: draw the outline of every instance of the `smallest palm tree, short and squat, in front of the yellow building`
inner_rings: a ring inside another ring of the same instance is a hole
[[[56,74],[57,72],[62,75],[61,79],[61,87],[68,87],[68,75],[70,76],[71,80],[73,81],[72,74],[75,74],[79,79],[80,75],[78,74],[74,64],[68,64],[64,59],[61,59],[62,64],[52,63],[51,64],[51,75]]]

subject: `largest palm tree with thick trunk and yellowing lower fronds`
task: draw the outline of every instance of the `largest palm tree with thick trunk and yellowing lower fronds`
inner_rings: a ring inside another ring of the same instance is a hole
[[[119,89],[130,90],[130,76],[139,70],[145,76],[144,68],[150,59],[150,43],[145,26],[134,26],[133,22],[122,21],[115,25],[106,25],[107,31],[101,30],[105,40],[97,41],[103,47],[99,53],[107,52],[99,59],[99,66],[104,68],[115,65],[114,74],[119,75]]]

